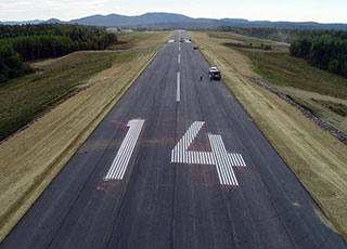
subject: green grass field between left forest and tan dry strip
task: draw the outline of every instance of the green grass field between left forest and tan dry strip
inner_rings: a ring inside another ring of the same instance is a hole
[[[42,71],[10,80],[0,87],[0,140],[31,121],[78,86],[113,63],[132,60],[134,53],[74,53]]]

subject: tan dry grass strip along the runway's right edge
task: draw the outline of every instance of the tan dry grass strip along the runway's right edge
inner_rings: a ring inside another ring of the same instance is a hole
[[[259,76],[237,51],[203,32],[189,36],[209,63],[219,67],[227,87],[347,239],[347,147],[295,107],[254,83],[252,78]]]

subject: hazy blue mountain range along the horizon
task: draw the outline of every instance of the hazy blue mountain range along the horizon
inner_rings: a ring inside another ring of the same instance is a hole
[[[299,29],[342,29],[347,30],[347,24],[320,24],[314,22],[269,22],[247,21],[242,18],[192,18],[187,15],[172,13],[146,13],[138,16],[118,14],[92,15],[69,22],[56,18],[48,21],[34,19],[26,22],[3,22],[0,24],[38,24],[38,23],[70,23],[80,25],[105,26],[105,27],[129,27],[151,29],[211,29],[219,26],[236,27],[278,27]]]

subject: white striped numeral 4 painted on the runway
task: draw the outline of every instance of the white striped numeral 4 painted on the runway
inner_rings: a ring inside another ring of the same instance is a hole
[[[171,150],[171,162],[216,166],[221,185],[237,186],[239,182],[232,167],[246,167],[246,163],[241,154],[227,152],[221,135],[208,134],[213,152],[188,150],[204,124],[204,121],[195,121],[192,123]]]

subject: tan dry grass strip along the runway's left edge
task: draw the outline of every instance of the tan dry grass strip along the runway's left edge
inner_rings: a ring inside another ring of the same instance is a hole
[[[163,32],[142,40],[134,47],[142,52],[131,62],[101,71],[89,80],[90,88],[0,145],[0,241],[151,62],[155,55],[151,48],[169,36]],[[54,63],[64,58],[46,66]]]

